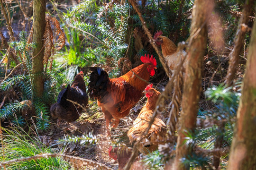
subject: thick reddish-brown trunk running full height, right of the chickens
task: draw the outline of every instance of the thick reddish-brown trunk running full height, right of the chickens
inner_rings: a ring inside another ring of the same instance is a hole
[[[183,164],[182,158],[189,154],[184,144],[186,134],[192,132],[196,125],[198,102],[201,93],[201,67],[206,48],[207,19],[213,8],[212,0],[196,0],[192,12],[191,36],[188,50],[188,67],[183,89],[181,127],[179,129],[175,170],[189,170],[189,163]]]

